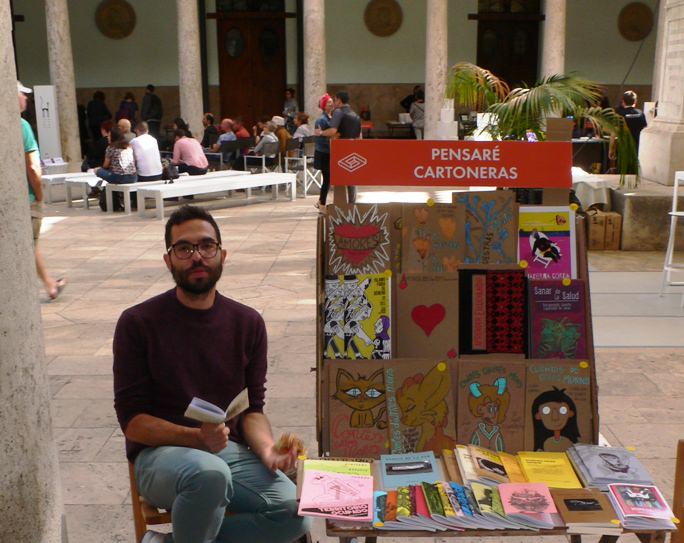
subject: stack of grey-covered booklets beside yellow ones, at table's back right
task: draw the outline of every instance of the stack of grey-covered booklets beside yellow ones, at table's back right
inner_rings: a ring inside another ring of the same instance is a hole
[[[575,443],[567,454],[586,487],[605,492],[610,483],[653,484],[651,474],[636,456],[621,447]]]

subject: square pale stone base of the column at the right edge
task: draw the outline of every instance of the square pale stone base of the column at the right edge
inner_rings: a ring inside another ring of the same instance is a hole
[[[674,185],[674,173],[684,170],[684,123],[658,122],[641,131],[641,177],[661,185]]]

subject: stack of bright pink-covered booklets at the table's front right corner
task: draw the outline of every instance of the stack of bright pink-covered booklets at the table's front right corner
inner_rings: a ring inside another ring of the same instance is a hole
[[[653,485],[608,485],[608,497],[628,530],[674,530],[674,515]]]

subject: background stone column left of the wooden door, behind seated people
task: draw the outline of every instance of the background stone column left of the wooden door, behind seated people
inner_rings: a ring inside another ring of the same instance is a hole
[[[194,0],[176,0],[178,24],[178,88],[181,117],[202,139],[202,63],[199,14]]]

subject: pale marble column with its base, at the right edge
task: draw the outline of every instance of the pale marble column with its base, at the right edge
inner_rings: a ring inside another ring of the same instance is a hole
[[[661,53],[658,66],[658,116],[641,131],[639,162],[648,181],[674,184],[674,172],[684,170],[684,0],[661,0],[658,21]],[[662,33],[662,35],[660,35]]]

